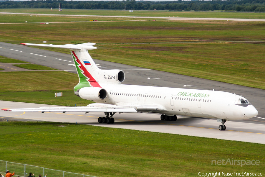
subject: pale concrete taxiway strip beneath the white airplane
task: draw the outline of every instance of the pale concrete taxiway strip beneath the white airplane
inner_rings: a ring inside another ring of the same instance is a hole
[[[30,108],[47,106],[43,104],[0,101],[0,108]],[[57,107],[49,105],[49,107]],[[97,118],[104,113],[50,113],[2,111],[0,119],[19,121],[51,121],[87,124],[102,127],[124,128],[151,132],[190,135],[265,144],[265,130],[262,124],[227,122],[226,131],[218,130],[218,122],[212,119],[178,117],[177,121],[162,121],[160,115],[145,113],[115,114],[114,124],[98,123]]]

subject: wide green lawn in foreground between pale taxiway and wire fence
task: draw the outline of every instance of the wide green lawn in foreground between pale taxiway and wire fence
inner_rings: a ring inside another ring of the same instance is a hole
[[[9,121],[0,127],[1,160],[92,176],[263,173],[265,168],[264,145],[256,143],[54,122]],[[260,160],[260,165],[211,165],[228,158]]]

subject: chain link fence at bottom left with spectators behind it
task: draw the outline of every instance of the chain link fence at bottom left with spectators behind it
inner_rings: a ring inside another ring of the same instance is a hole
[[[6,174],[6,171],[9,170],[10,173],[15,172],[14,176],[29,176],[29,173],[34,173],[35,177],[38,177],[39,175],[42,175],[43,177],[47,174],[47,177],[88,177],[90,175],[83,175],[78,173],[71,173],[66,171],[60,171],[60,170],[53,170],[49,168],[43,168],[43,167],[37,167],[33,165],[27,165],[22,163],[14,163],[14,162],[7,162],[4,160],[0,160],[0,173],[1,175]],[[91,177],[97,177],[97,176],[91,176]]]

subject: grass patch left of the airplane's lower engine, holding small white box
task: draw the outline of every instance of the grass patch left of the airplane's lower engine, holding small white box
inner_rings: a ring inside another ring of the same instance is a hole
[[[0,100],[62,106],[86,106],[92,101],[74,94],[78,76],[65,71],[0,72]],[[15,79],[14,79],[15,78]],[[62,97],[55,97],[63,92]]]

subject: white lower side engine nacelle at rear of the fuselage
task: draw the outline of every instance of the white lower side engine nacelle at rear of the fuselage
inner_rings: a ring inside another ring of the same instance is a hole
[[[74,92],[77,96],[86,100],[103,100],[107,98],[107,91],[100,87],[83,87]]]

